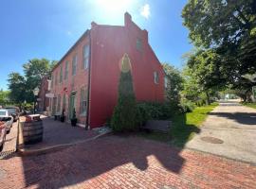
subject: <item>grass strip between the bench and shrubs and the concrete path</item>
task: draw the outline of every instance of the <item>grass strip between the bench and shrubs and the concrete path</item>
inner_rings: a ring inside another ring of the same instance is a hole
[[[197,107],[192,112],[178,114],[172,118],[173,126],[169,134],[158,132],[139,132],[138,136],[160,142],[171,142],[174,146],[183,147],[192,139],[192,136],[200,131],[201,124],[205,121],[209,112],[211,112],[218,103],[212,103],[209,106]]]

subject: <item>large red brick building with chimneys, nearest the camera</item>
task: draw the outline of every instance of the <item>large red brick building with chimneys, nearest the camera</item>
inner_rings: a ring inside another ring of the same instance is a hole
[[[101,127],[118,102],[120,60],[127,54],[138,101],[164,100],[164,72],[141,30],[129,13],[124,26],[91,24],[91,29],[52,70],[52,114],[64,109],[67,120],[75,108],[80,124]]]

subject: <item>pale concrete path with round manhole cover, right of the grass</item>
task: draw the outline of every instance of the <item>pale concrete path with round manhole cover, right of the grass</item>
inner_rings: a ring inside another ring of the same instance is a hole
[[[211,144],[204,137],[223,143]],[[187,147],[256,164],[256,110],[237,102],[220,103]]]

